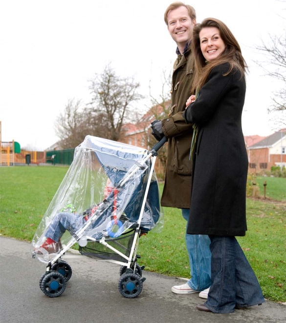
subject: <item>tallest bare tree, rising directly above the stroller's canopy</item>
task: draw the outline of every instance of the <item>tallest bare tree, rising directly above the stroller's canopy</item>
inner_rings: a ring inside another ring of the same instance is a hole
[[[124,122],[131,121],[135,109],[132,106],[143,96],[139,94],[139,83],[133,77],[120,77],[108,64],[102,73],[89,80],[92,94],[90,113],[104,119],[105,138],[117,141],[122,136]]]

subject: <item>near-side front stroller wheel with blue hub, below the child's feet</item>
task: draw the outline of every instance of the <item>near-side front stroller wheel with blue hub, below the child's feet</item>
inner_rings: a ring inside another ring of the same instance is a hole
[[[48,297],[58,297],[64,293],[65,289],[65,277],[59,272],[51,271],[49,274],[44,276],[41,290]]]

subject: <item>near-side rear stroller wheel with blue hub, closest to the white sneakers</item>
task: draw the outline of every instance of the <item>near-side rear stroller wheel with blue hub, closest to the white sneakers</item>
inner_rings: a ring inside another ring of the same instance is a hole
[[[118,289],[121,295],[128,299],[137,297],[142,291],[141,278],[135,274],[123,274],[119,278]]]

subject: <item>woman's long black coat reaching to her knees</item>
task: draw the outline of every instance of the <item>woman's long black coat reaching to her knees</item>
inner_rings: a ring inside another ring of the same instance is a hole
[[[187,232],[243,236],[248,159],[242,134],[245,78],[228,63],[212,69],[198,98],[184,112],[199,126]]]

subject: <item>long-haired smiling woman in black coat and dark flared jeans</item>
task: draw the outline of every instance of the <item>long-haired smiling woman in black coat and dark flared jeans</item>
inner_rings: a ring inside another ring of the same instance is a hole
[[[187,232],[208,234],[212,253],[208,299],[197,309],[232,313],[264,302],[235,236],[246,231],[248,160],[242,134],[245,69],[228,27],[208,18],[194,28],[194,90],[183,116],[193,123],[193,184]]]

